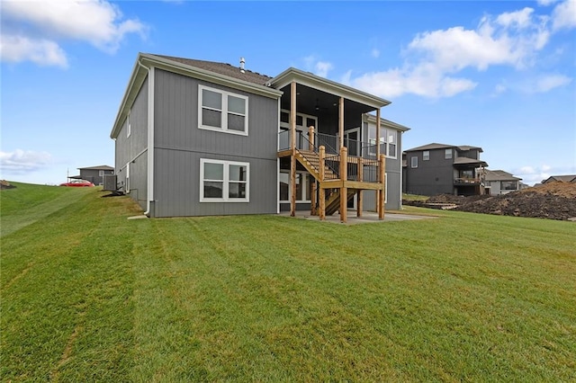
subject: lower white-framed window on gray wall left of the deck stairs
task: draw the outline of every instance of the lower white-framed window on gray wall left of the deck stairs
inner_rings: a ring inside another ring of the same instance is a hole
[[[250,164],[200,159],[201,202],[248,202]]]

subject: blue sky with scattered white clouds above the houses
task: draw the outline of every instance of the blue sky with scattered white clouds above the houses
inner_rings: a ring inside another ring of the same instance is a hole
[[[298,67],[376,94],[403,148],[482,147],[492,170],[576,174],[576,1],[0,3],[0,177],[113,165],[138,52]]]

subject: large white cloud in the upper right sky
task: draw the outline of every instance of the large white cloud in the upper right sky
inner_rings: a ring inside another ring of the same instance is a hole
[[[558,25],[556,28],[572,27],[572,23],[576,23],[576,17],[571,16],[576,14],[574,4],[576,0],[557,4],[552,18],[535,14],[533,8],[526,7],[484,16],[472,30],[456,26],[419,33],[405,49],[406,61],[401,67],[348,76],[348,83],[384,98],[401,94],[450,97],[470,91],[477,83],[455,74],[469,68],[485,71],[492,66],[516,69],[533,66],[553,33],[551,20]],[[570,81],[566,76],[546,76],[532,89],[546,92]],[[497,86],[496,94],[504,90],[503,85]]]

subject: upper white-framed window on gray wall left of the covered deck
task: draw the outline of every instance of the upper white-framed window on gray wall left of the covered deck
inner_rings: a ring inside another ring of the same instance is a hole
[[[248,98],[198,86],[198,128],[248,135]]]

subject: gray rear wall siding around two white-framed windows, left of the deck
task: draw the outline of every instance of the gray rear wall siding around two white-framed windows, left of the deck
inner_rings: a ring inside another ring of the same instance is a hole
[[[198,85],[248,97],[248,136],[198,129]],[[275,213],[278,102],[157,70],[154,216]],[[249,202],[200,202],[200,159],[250,164]]]

